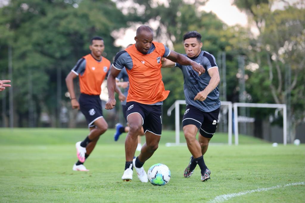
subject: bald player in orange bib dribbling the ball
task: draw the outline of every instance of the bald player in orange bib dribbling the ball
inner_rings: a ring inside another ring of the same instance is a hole
[[[161,75],[161,57],[165,57],[183,65],[191,65],[197,73],[204,73],[203,66],[187,57],[170,51],[162,43],[153,41],[153,31],[148,26],[140,26],[136,31],[135,44],[117,53],[107,80],[109,99],[106,109],[112,109],[115,78],[126,67],[129,76],[129,91],[126,103],[126,115],[129,132],[125,140],[125,171],[123,181],[132,180],[133,167],[141,182],[148,182],[143,168],[158,148],[162,132],[161,105],[169,94],[165,91]],[[137,147],[137,137],[143,126],[146,143],[140,154],[133,159]]]

